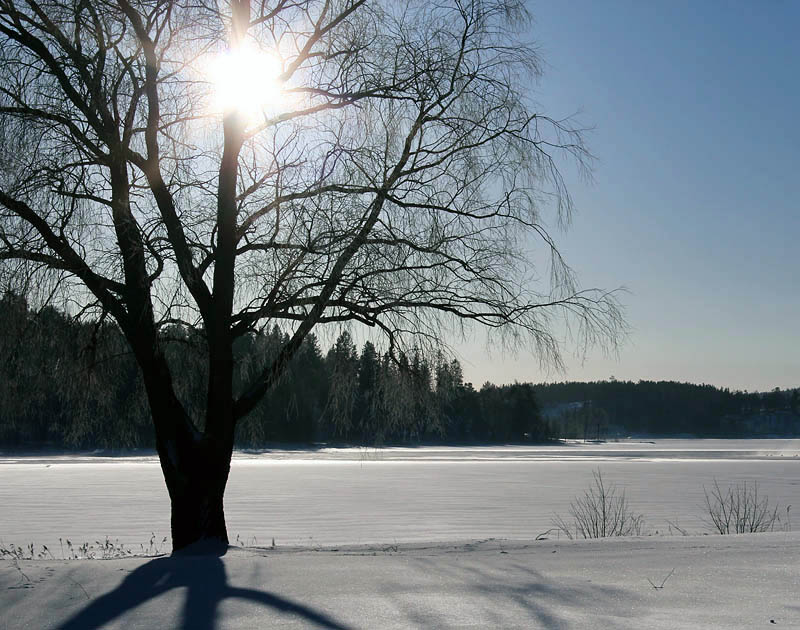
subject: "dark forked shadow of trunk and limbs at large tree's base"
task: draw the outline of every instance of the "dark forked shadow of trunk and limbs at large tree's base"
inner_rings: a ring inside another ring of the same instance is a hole
[[[178,555],[143,564],[113,591],[93,600],[59,628],[88,630],[105,627],[105,624],[125,612],[175,588],[186,589],[182,618],[177,626],[185,630],[214,630],[217,627],[218,605],[230,598],[295,615],[310,627],[347,629],[324,613],[290,599],[266,591],[229,585],[221,558],[208,555]]]

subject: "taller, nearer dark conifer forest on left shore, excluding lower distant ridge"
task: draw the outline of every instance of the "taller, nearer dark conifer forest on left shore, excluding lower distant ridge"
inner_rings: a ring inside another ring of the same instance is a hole
[[[0,446],[151,448],[147,399],[117,327],[77,322],[55,308],[0,299]],[[278,328],[241,337],[235,387],[285,343]],[[202,423],[204,341],[171,326],[163,342],[177,394]],[[239,447],[274,442],[360,444],[543,441],[534,387],[463,382],[461,366],[419,351],[394,358],[370,342],[361,350],[342,332],[323,352],[309,335],[282,381],[237,426]]]

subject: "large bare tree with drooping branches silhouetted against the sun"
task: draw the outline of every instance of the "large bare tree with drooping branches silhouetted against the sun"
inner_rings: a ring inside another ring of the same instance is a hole
[[[619,338],[540,217],[568,219],[557,164],[591,156],[529,100],[526,25],[521,0],[0,0],[2,273],[118,323],[175,549],[227,542],[236,423],[317,324],[394,348],[473,322],[551,364],[557,316]],[[235,391],[233,341],[276,322],[288,341]],[[165,359],[176,323],[205,340],[200,417]]]

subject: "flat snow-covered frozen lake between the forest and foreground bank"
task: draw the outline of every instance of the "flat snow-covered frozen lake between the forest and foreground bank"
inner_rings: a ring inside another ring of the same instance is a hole
[[[251,545],[531,539],[598,469],[650,533],[670,533],[670,522],[707,531],[704,487],[715,479],[757,482],[800,525],[800,440],[786,439],[237,452],[225,510],[231,538]],[[109,537],[138,548],[169,535],[153,455],[0,453],[0,506],[6,545]]]

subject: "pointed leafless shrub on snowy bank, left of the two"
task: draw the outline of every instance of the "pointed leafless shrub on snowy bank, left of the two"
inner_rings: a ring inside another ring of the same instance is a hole
[[[569,506],[572,522],[556,514],[553,519],[556,529],[570,539],[641,535],[644,516],[631,511],[625,492],[606,485],[600,470],[592,475],[592,485]]]

